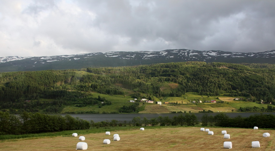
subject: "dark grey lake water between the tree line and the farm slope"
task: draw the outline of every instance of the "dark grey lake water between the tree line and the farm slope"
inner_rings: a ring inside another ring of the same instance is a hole
[[[174,116],[178,116],[181,113],[160,113],[160,114],[153,114],[153,113],[148,113],[148,114],[69,114],[72,117],[79,117],[81,119],[90,121],[93,120],[94,122],[101,122],[101,121],[109,121],[111,122],[113,119],[118,120],[119,122],[123,121],[132,121],[132,119],[136,116],[139,116],[141,119],[143,117],[146,117],[148,119],[151,118],[157,118],[159,116],[165,117],[168,116],[169,118],[173,118]],[[184,114],[184,113],[183,113]],[[219,113],[194,113],[197,117],[198,120],[200,121],[201,117],[204,114],[208,114],[208,115],[217,115]],[[275,115],[275,112],[262,112],[262,113],[225,113],[226,115],[228,115],[230,118],[234,118],[237,117],[238,115],[241,115],[242,117],[249,117],[250,115],[254,115],[254,114],[272,114]],[[66,114],[61,114],[61,115],[66,115]]]

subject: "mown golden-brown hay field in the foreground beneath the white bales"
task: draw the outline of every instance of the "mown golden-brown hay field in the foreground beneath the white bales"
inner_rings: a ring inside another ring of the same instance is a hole
[[[199,127],[164,127],[156,129],[131,129],[124,131],[112,131],[111,135],[105,133],[87,134],[85,141],[88,144],[87,150],[97,151],[182,151],[182,150],[226,150],[223,142],[231,141],[231,151],[272,151],[275,149],[275,130],[254,130],[235,128],[209,128],[214,135],[207,135],[207,132],[200,131]],[[230,134],[230,139],[223,139],[222,130]],[[270,137],[262,137],[268,132]],[[120,141],[113,141],[113,134],[119,134]],[[81,136],[81,134],[79,135]],[[104,139],[110,139],[110,144],[103,144]],[[260,148],[252,148],[251,142],[259,141]],[[9,142],[0,142],[0,150],[20,151],[72,151],[76,149],[78,137],[53,137],[40,139],[27,139]]]

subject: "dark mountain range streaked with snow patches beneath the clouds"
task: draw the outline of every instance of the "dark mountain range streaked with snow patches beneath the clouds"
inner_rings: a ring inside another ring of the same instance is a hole
[[[186,61],[275,64],[275,50],[237,53],[220,50],[170,49],[162,51],[98,52],[43,57],[0,57],[0,72],[136,66]]]

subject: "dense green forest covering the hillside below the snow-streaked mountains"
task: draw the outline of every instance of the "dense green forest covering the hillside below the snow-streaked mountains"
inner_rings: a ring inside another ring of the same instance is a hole
[[[275,65],[180,62],[134,67],[99,67],[80,70],[44,70],[0,73],[0,109],[58,113],[64,105],[111,105],[92,92],[133,98],[182,96],[186,92],[210,96],[244,96],[246,101],[273,102]],[[162,91],[166,82],[178,84]],[[44,101],[52,99],[53,101]],[[36,100],[36,101],[32,101]],[[133,106],[134,107],[134,106]],[[130,107],[120,112],[129,112]]]

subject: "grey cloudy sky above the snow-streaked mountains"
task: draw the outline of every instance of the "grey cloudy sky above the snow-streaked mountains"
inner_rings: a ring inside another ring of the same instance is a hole
[[[275,49],[274,0],[0,0],[0,57]]]

